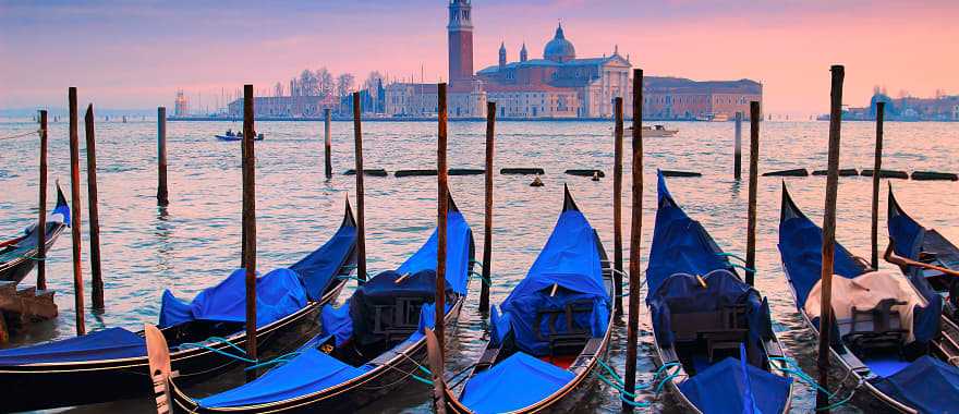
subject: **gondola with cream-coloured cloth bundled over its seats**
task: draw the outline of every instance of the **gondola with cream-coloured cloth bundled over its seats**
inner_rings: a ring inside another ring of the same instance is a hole
[[[816,336],[822,247],[822,229],[784,183],[779,253],[797,308]],[[842,375],[898,412],[955,411],[959,330],[942,315],[942,296],[924,294],[901,272],[874,271],[839,243],[834,254],[829,349]]]

